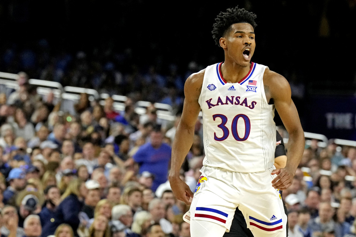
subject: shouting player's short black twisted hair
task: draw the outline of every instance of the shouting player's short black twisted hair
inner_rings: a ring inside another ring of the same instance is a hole
[[[229,8],[226,12],[220,12],[215,18],[215,23],[213,25],[213,38],[217,45],[220,46],[219,40],[224,37],[227,30],[232,24],[235,23],[249,23],[253,29],[257,26],[255,22],[256,14],[245,10],[244,8]]]

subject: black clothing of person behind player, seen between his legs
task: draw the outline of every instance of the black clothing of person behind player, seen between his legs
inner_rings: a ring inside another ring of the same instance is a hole
[[[276,151],[274,152],[274,158],[277,158],[279,156],[286,156],[286,150],[284,148],[284,142],[282,136],[276,131]],[[287,157],[284,157],[287,159]],[[281,195],[282,195],[282,190],[280,190]],[[283,206],[284,206],[284,211],[286,212],[287,215],[287,208],[286,205],[284,204],[283,201]],[[287,215],[288,216],[288,215]],[[287,220],[287,236],[288,236],[288,220]],[[242,212],[239,210],[239,207],[236,208],[234,219],[232,220],[231,227],[230,227],[230,232],[225,232],[223,237],[254,237],[252,235],[252,232],[250,231],[249,228],[247,228],[246,221],[244,215],[242,215]]]

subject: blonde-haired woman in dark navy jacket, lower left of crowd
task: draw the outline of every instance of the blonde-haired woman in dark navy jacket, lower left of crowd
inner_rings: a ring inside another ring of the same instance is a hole
[[[68,184],[66,191],[61,196],[61,203],[58,205],[52,220],[47,222],[42,228],[42,235],[53,235],[56,228],[67,223],[72,227],[74,235],[77,236],[79,226],[79,212],[83,208],[83,200],[87,196],[88,189],[85,187],[85,182],[82,179],[73,179]]]

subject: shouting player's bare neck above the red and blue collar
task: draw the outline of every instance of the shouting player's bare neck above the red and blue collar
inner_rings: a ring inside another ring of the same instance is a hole
[[[223,65],[221,65],[221,73],[223,74],[225,81],[229,83],[237,83],[248,74],[250,68],[251,63],[248,63],[247,66],[242,66],[235,62],[225,61]]]

